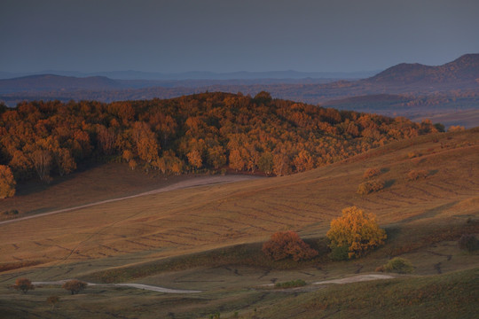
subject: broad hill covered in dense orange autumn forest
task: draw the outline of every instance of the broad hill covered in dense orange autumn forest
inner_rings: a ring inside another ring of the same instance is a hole
[[[435,131],[430,121],[339,112],[266,92],[110,104],[25,102],[0,113],[0,164],[17,181],[48,182],[98,160],[164,174],[232,169],[288,175]]]

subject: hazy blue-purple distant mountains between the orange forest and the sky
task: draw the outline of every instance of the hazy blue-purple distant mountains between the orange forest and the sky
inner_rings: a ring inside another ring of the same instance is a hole
[[[314,76],[314,73],[304,74],[294,71],[182,75],[189,76],[190,80],[131,80],[136,76],[148,75],[134,71],[127,72],[126,75],[124,73],[110,75],[130,76],[130,80],[126,78],[114,80],[99,75],[89,77],[30,75],[0,80],[0,101],[9,106],[23,100],[40,99],[58,99],[64,102],[71,99],[112,102],[180,97],[205,91],[242,92],[254,96],[265,90],[270,92],[272,97],[298,102],[416,118],[432,113],[479,109],[479,54],[467,54],[443,66],[402,63],[362,80],[334,81],[311,77],[295,79],[294,76]],[[208,76],[236,77],[236,79],[200,79]]]

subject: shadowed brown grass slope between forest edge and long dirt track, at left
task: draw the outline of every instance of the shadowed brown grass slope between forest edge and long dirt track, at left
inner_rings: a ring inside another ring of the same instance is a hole
[[[151,191],[188,176],[145,175],[128,166],[111,163],[55,178],[50,185],[39,181],[20,183],[13,198],[0,202],[0,213],[17,209],[19,216],[81,206],[109,198]],[[4,216],[0,215],[0,219]]]

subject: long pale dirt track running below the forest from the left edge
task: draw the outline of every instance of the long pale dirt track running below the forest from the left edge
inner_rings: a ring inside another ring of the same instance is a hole
[[[252,180],[252,179],[257,179],[257,178],[261,178],[261,177],[251,176],[251,175],[224,175],[224,176],[195,177],[195,178],[183,181],[183,182],[174,183],[174,184],[169,185],[169,186],[161,187],[160,189],[157,189],[157,190],[145,191],[145,192],[137,194],[137,195],[131,195],[131,196],[126,196],[126,197],[122,197],[122,198],[106,199],[106,200],[101,200],[101,201],[86,204],[86,205],[59,209],[59,210],[55,210],[55,211],[48,212],[48,213],[35,214],[35,215],[31,215],[31,216],[26,216],[26,217],[20,217],[20,218],[12,219],[12,220],[9,220],[9,221],[0,222],[0,225],[6,224],[6,223],[9,223],[9,222],[25,221],[27,219],[43,217],[43,216],[47,216],[47,215],[51,215],[51,214],[59,214],[59,213],[70,212],[70,211],[77,210],[77,209],[88,208],[90,206],[97,206],[97,205],[101,205],[101,204],[113,203],[113,202],[116,202],[116,201],[130,199],[130,198],[138,198],[138,197],[142,197],[142,196],[158,194],[158,193],[165,192],[165,191],[177,191],[177,190],[181,190],[181,189],[185,189],[185,188],[192,188],[192,187],[216,185],[216,184],[223,184],[223,183],[235,183],[235,182],[247,181],[247,180]]]

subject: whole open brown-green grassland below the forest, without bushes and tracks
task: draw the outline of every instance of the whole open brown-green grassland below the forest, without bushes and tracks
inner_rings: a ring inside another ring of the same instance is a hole
[[[389,144],[303,174],[158,193],[4,224],[0,266],[18,268],[0,276],[0,310],[6,317],[201,318],[216,311],[222,317],[238,311],[262,318],[468,317],[478,303],[479,255],[461,252],[457,239],[479,233],[478,162],[479,129],[473,129]],[[371,167],[380,168],[377,178],[386,188],[358,195],[357,185]],[[410,181],[411,170],[426,170],[428,176]],[[132,174],[138,186],[129,188],[122,175],[103,172],[109,189],[102,195],[92,187],[97,181],[84,178],[75,186],[82,176],[74,175],[43,191],[25,192],[26,204],[17,205],[35,214],[35,203],[44,212],[157,187],[157,181],[145,186]],[[59,189],[65,195],[56,198]],[[298,231],[324,249],[329,222],[353,205],[376,214],[389,236],[387,245],[364,259],[331,262],[323,253],[315,261],[275,263],[261,254],[261,243],[278,230]],[[414,275],[349,288],[312,285],[371,273],[391,256],[412,261]],[[45,286],[20,296],[6,288],[19,276],[202,292],[172,296],[98,286],[67,296]],[[293,290],[263,286],[299,279],[306,285]],[[410,298],[411,291],[421,294]],[[61,300],[51,310],[45,300],[54,294]],[[450,307],[438,307],[441,303]]]

